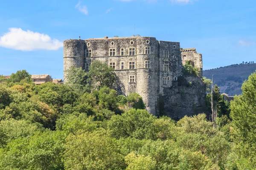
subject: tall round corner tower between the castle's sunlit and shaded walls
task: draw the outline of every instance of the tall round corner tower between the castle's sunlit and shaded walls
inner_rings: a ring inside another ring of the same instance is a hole
[[[158,101],[158,41],[153,37],[137,40],[137,93],[149,113],[157,115]]]

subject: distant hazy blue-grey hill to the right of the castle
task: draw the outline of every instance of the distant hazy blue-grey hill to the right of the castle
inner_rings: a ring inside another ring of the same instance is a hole
[[[235,64],[226,67],[204,70],[203,76],[212,79],[220,87],[221,93],[229,96],[235,96],[242,93],[241,85],[244,80],[248,79],[250,74],[256,70],[256,63]]]

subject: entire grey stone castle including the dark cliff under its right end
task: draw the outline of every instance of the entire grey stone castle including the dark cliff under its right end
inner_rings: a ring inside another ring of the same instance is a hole
[[[187,60],[202,71],[202,55],[195,48],[183,49],[179,42],[139,35],[64,40],[64,82],[66,71],[72,66],[88,71],[94,60],[113,67],[118,93],[140,94],[147,111],[153,115],[180,119],[202,111],[205,102],[202,74],[182,76]]]

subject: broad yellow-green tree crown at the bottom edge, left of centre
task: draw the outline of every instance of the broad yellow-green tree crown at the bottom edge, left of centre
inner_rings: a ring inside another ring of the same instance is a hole
[[[66,142],[64,166],[67,170],[119,170],[126,166],[116,139],[105,130],[70,134]]]

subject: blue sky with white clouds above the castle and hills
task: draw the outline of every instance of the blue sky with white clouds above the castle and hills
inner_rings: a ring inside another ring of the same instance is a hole
[[[0,74],[63,78],[63,40],[131,37],[134,24],[141,36],[196,48],[204,70],[256,57],[255,0],[2,0]]]

